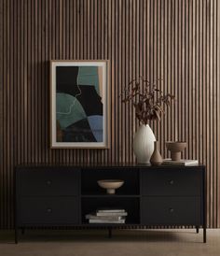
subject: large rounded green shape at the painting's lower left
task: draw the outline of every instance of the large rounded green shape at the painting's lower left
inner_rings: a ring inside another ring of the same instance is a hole
[[[87,118],[82,105],[76,97],[67,93],[57,93],[56,116],[62,129],[76,121]]]

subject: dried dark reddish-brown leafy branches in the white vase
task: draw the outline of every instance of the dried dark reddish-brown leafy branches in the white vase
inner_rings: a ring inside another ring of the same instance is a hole
[[[163,107],[169,107],[171,100],[175,98],[171,93],[164,94],[158,90],[159,80],[161,79],[151,83],[143,77],[132,79],[120,95],[123,103],[131,101],[135,108],[136,118],[144,124],[149,120],[160,121],[161,114],[165,113]],[[141,82],[143,82],[143,87],[141,87]]]

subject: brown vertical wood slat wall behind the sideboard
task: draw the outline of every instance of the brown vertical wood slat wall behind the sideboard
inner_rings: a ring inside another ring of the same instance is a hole
[[[176,95],[164,142],[207,164],[208,225],[220,227],[218,0],[0,0],[0,228],[13,227],[13,168],[21,163],[132,162],[138,126],[118,95],[135,77]],[[49,149],[50,59],[110,60],[110,149]]]

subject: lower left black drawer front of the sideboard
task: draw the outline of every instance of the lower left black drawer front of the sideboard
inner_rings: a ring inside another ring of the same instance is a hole
[[[17,204],[18,225],[65,225],[79,223],[76,197],[21,197]]]

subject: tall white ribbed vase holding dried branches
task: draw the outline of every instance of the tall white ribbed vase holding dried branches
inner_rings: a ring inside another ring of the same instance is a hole
[[[138,164],[150,164],[156,137],[148,124],[142,124],[133,138],[133,151]]]

